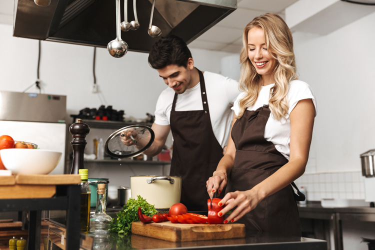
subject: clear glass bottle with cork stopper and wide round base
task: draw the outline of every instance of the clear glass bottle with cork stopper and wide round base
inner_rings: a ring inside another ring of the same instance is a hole
[[[90,216],[90,233],[109,233],[111,216],[105,213],[105,184],[99,183],[96,188],[96,209]]]

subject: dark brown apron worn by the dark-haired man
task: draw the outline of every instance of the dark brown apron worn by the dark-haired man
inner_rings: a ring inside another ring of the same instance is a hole
[[[170,175],[182,176],[181,203],[189,211],[206,211],[207,179],[216,170],[222,148],[212,131],[203,73],[199,71],[203,110],[175,111],[174,94],[170,112],[173,154]]]

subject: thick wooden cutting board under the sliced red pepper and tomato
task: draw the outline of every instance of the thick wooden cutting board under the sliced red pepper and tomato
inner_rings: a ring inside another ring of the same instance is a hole
[[[168,241],[243,238],[244,224],[181,224],[170,221],[144,224],[132,222],[131,233]]]

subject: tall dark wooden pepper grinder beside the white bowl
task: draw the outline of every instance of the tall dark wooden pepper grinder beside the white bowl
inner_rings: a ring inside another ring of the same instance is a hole
[[[86,123],[83,123],[81,119],[78,119],[78,122],[71,124],[69,127],[69,132],[73,136],[73,139],[70,141],[73,147],[73,164],[70,174],[78,174],[78,169],[84,168],[83,153],[84,147],[87,144],[85,137],[89,131],[90,127]]]

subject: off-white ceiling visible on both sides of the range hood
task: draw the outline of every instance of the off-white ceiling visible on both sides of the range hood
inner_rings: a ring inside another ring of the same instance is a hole
[[[189,47],[239,52],[242,29],[253,17],[266,12],[283,16],[285,7],[296,1],[237,0],[236,10],[192,41]],[[0,23],[13,24],[13,2],[14,0],[0,0]]]

